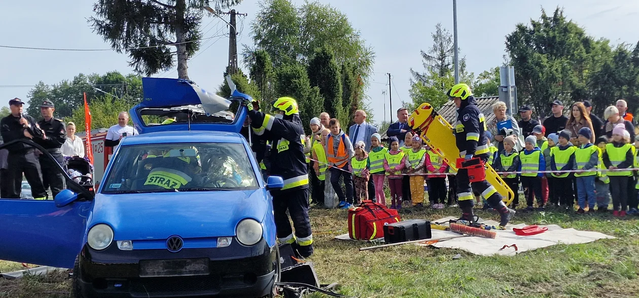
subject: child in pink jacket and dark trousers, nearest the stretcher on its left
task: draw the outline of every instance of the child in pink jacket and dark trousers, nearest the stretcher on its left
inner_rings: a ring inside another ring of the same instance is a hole
[[[426,169],[428,174],[443,174],[448,165],[442,156],[426,146]],[[428,198],[433,209],[443,209],[446,201],[446,176],[430,175],[428,178]]]

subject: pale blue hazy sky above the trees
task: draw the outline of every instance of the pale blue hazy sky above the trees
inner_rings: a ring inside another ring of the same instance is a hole
[[[88,0],[5,1],[0,10],[0,45],[42,48],[108,49],[109,44],[93,33],[87,22],[93,16]],[[293,0],[303,4],[304,0]],[[319,0],[343,11],[375,52],[374,73],[366,94],[373,107],[373,120],[390,117],[386,73],[393,84],[392,107],[410,101],[410,68],[422,71],[420,50],[432,46],[435,25],[452,33],[452,0]],[[396,4],[389,6],[389,3]],[[235,9],[247,13],[238,19],[238,51],[252,45],[250,23],[258,11],[258,0],[243,0]],[[586,29],[590,36],[607,38],[613,44],[635,44],[639,40],[639,1],[627,0],[458,0],[460,57],[475,75],[504,62],[505,36],[516,24],[539,19],[541,8],[551,14],[559,6],[564,14]],[[216,17],[205,17],[204,37],[228,33]],[[208,43],[207,43],[208,41]],[[189,61],[189,77],[199,86],[215,88],[222,82],[227,64],[228,39],[204,41]],[[241,61],[240,61],[240,64]],[[117,70],[131,73],[126,54],[114,51],[73,52],[0,48],[0,106],[12,98],[27,101],[29,89],[39,81],[57,84],[78,73],[104,74]],[[517,71],[517,70],[515,70]],[[154,77],[177,77],[174,70]],[[387,91],[383,95],[382,91]],[[3,103],[4,101],[4,103]],[[392,112],[393,119],[397,117]]]

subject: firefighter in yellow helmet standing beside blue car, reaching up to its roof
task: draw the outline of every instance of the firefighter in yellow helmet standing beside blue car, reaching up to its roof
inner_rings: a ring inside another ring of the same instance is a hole
[[[277,99],[273,103],[274,115],[254,110],[250,100],[245,100],[245,105],[249,108],[252,128],[261,131],[258,133],[272,144],[269,174],[284,179],[281,190],[271,191],[277,239],[281,243],[290,243],[302,257],[309,257],[313,253],[309,220],[309,176],[300,138],[304,135],[304,128],[297,102],[289,97]],[[293,220],[295,234],[286,215],[287,210]]]

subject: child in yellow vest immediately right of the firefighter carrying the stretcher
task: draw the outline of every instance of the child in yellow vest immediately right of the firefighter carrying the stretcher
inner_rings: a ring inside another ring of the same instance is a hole
[[[516,172],[519,167],[520,157],[517,151],[514,149],[517,140],[514,135],[509,135],[504,138],[504,150],[497,154],[495,158],[495,171],[497,172]],[[519,204],[519,177],[517,174],[502,174],[502,179],[511,188],[515,197],[512,200],[512,209],[515,209]],[[491,209],[488,204],[484,204],[484,210]]]

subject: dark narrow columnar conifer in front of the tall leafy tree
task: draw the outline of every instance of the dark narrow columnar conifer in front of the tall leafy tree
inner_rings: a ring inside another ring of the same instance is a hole
[[[348,124],[348,115],[344,115],[342,105],[342,80],[332,50],[328,47],[318,48],[307,70],[311,86],[317,86],[324,98],[321,112],[327,112],[344,125]]]

